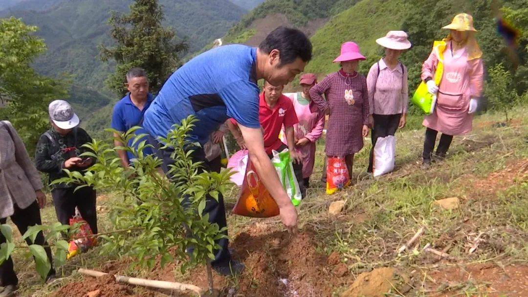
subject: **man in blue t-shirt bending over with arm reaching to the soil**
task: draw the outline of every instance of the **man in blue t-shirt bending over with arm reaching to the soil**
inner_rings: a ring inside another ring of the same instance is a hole
[[[279,206],[282,223],[295,233],[297,212],[264,150],[257,81],[287,84],[304,71],[310,59],[312,44],[306,35],[286,27],[271,32],[256,49],[245,45],[216,47],[196,56],[171,75],[145,112],[144,127],[153,138],[166,137],[174,124],[180,124],[192,114],[198,122],[188,137],[203,146],[220,124],[234,118],[262,183]],[[159,142],[151,140],[167,172],[168,165],[174,163],[170,158],[171,149],[159,149]],[[194,149],[193,159],[204,161],[204,169],[209,170],[203,149]],[[220,228],[227,225],[222,197],[218,203],[208,197],[204,212]],[[213,269],[224,275],[239,273],[243,265],[231,260],[228,240],[221,239],[218,244],[221,249],[215,251]]]

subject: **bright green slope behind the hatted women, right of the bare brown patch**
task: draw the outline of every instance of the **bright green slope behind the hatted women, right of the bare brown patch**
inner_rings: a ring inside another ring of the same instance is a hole
[[[512,62],[504,54],[505,43],[496,33],[492,2],[418,0],[410,3],[403,0],[363,0],[335,15],[311,37],[314,59],[310,61],[306,71],[318,73],[320,77],[336,71],[339,66],[332,61],[340,52],[341,44],[355,41],[367,58],[360,63],[360,72],[366,75],[370,66],[383,55],[382,47],[375,40],[390,30],[403,30],[409,34],[413,45],[400,59],[409,69],[409,91],[412,92],[420,81],[421,64],[430,53],[433,40],[446,37],[448,31],[441,27],[449,24],[453,16],[460,12],[474,16],[478,30],[476,37],[483,50],[486,67],[489,69],[503,63],[506,68],[511,69]],[[521,0],[504,2],[506,7],[519,8],[523,5],[525,1]],[[526,59],[526,49],[523,50],[523,46],[520,46],[520,57]],[[525,72],[518,71],[515,80],[526,81]]]

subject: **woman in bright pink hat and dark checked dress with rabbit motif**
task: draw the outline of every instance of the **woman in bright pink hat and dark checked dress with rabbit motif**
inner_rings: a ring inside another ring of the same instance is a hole
[[[334,63],[341,64],[341,69],[326,76],[310,90],[310,97],[319,110],[329,114],[326,155],[343,157],[350,177],[354,154],[363,148],[363,137],[369,135],[366,79],[357,73],[360,60],[365,57],[359,46],[354,42],[343,43],[341,54],[334,60]]]

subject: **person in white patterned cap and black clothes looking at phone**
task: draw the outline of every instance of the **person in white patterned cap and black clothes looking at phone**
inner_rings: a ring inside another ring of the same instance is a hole
[[[88,151],[82,147],[92,142],[86,131],[79,126],[79,117],[73,112],[70,103],[55,100],[49,106],[52,128],[41,135],[35,152],[36,168],[47,173],[50,183],[66,177],[63,169],[82,171],[95,160],[80,155]],[[92,187],[82,187],[74,191],[77,184],[52,185],[51,195],[59,222],[69,225],[70,218],[79,209],[82,218],[88,222],[93,234],[97,233],[96,191]]]

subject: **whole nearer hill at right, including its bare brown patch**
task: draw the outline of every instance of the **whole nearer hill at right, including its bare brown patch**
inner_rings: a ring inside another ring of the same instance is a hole
[[[338,65],[332,60],[338,55],[343,42],[355,41],[360,45],[367,57],[367,61],[360,63],[360,71],[366,75],[370,65],[383,53],[375,40],[390,30],[404,30],[409,34],[413,47],[402,55],[401,60],[409,68],[409,89],[413,90],[419,82],[421,63],[427,58],[433,40],[445,37],[448,32],[441,27],[461,12],[474,16],[475,27],[479,31],[477,39],[487,68],[503,63],[505,69],[512,69],[511,60],[505,54],[505,42],[496,33],[493,3],[492,0],[268,0],[233,26],[224,36],[224,42],[256,46],[278,25],[296,26],[310,35],[314,46],[314,59],[306,71],[315,72],[323,78],[337,70]],[[525,0],[503,3],[502,11],[521,9],[526,5]],[[525,46],[526,39],[521,39],[518,47],[520,66],[513,75],[513,85],[518,93],[526,90],[528,81]]]

